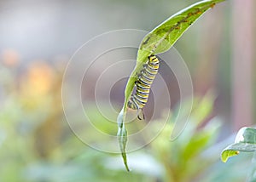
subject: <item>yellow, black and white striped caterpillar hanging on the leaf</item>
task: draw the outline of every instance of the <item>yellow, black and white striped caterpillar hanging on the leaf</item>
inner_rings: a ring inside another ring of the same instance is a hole
[[[140,72],[138,80],[135,82],[137,90],[135,94],[131,95],[131,99],[127,103],[128,108],[139,111],[146,105],[149,90],[158,72],[159,65],[160,60],[155,55],[148,56],[148,63],[144,65],[143,71]],[[141,120],[139,115],[137,117]]]

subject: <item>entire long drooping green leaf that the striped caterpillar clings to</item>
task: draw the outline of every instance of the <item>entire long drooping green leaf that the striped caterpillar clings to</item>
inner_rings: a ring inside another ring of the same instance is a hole
[[[127,132],[125,129],[125,112],[127,110],[127,103],[131,97],[132,90],[135,82],[138,79],[138,74],[143,70],[143,64],[148,60],[150,54],[160,54],[172,48],[179,37],[191,26],[195,20],[201,17],[207,9],[213,8],[216,3],[223,2],[224,0],[205,0],[195,3],[186,9],[179,11],[177,14],[172,15],[169,19],[165,20],[160,26],[150,31],[146,37],[143,38],[142,43],[137,52],[137,65],[131,72],[131,76],[125,88],[125,102],[122,111],[119,113],[118,126],[119,126],[119,146],[125,162],[125,167],[128,170],[125,154],[125,146],[127,142]],[[157,14],[156,14],[157,15]]]

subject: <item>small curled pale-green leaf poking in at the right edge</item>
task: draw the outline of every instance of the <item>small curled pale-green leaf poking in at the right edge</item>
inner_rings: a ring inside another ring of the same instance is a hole
[[[239,151],[256,151],[256,129],[241,128],[236,134],[235,143],[222,151],[221,160],[227,162],[230,156],[236,156]]]

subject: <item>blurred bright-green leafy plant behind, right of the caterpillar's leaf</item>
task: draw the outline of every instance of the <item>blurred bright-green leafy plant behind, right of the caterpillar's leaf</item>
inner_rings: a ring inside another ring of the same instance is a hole
[[[195,99],[188,126],[176,140],[166,141],[172,133],[174,112],[171,123],[151,144],[154,155],[165,168],[165,181],[193,181],[212,164],[211,156],[202,155],[217,138],[220,126],[215,119],[204,123],[212,111],[212,103],[212,96],[209,95]]]

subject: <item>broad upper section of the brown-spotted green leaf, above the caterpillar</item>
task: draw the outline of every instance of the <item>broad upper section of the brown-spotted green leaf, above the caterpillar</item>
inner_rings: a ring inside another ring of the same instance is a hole
[[[165,20],[160,26],[150,31],[140,45],[138,57],[147,52],[159,54],[167,51],[176,43],[177,39],[183,35],[189,26],[197,20],[207,9],[213,8],[216,3],[224,0],[205,0],[192,4],[177,14],[173,14],[169,19]],[[143,57],[143,56],[142,56]]]

